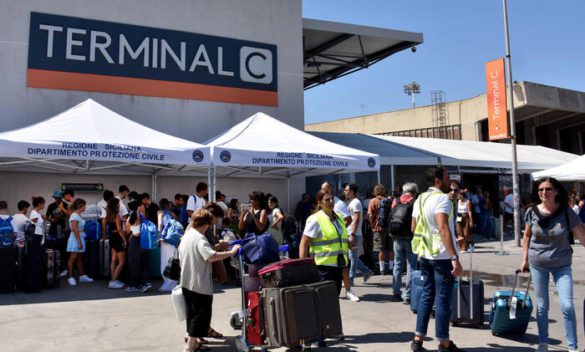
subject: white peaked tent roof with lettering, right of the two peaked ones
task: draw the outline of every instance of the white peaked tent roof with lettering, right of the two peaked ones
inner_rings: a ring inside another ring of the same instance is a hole
[[[208,141],[215,166],[294,176],[379,170],[377,154],[312,136],[256,113]]]

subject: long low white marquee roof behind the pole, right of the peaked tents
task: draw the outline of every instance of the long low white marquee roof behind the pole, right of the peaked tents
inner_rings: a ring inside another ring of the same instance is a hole
[[[440,158],[441,164],[446,166],[511,168],[510,145],[504,143],[348,133],[314,134],[350,147],[377,151],[383,164],[436,165],[437,158]],[[522,172],[546,169],[577,157],[575,154],[530,145],[518,145],[517,153],[518,169]]]

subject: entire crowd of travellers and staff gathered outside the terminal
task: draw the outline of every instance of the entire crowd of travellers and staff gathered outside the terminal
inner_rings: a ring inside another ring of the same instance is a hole
[[[149,290],[149,251],[140,244],[141,224],[150,222],[159,233],[164,233],[169,223],[180,224],[184,228],[180,241],[162,236],[160,246],[161,272],[171,257],[178,256],[181,278],[177,282],[163,275],[160,290],[171,291],[180,285],[187,306],[186,350],[206,350],[206,337],[222,336],[210,326],[213,281],[225,283],[229,279],[228,258],[239,248],[230,247],[230,242],[244,234],[268,232],[278,243],[289,244],[291,257],[313,257],[321,278],[334,281],[338,293],[345,288],[345,297],[354,302],[360,300],[352,290],[359,274],[363,282],[374,272],[391,274],[393,300],[405,304],[412,299],[410,277],[414,270],[434,278],[423,284],[411,349],[424,351],[423,341],[434,312],[439,351],[460,351],[449,338],[453,287],[463,272],[459,255],[474,251],[472,232],[491,234],[493,207],[489,193],[461,187],[443,168],[429,170],[427,181],[429,188],[422,193],[417,184],[408,182],[392,195],[379,184],[366,200],[359,199],[356,184],[344,185],[336,194],[333,185],[325,182],[314,199],[309,194],[302,196],[294,215],[287,215],[275,196],[261,191],[251,192],[250,202],[245,204],[237,199],[226,203],[220,191],[216,202],[210,202],[207,184],[201,182],[191,196],[177,194],[173,201],[162,198],[155,204],[147,193],[130,192],[121,185],[117,195],[104,191],[97,205],[101,235],[111,248],[108,287],[126,287],[129,292]],[[87,203],[70,190],[55,191],[53,199],[46,211],[42,197],[33,197],[32,203],[21,200],[14,215],[9,215],[6,202],[0,201],[0,219],[11,219],[14,244],[21,252],[26,241],[63,250],[67,255],[62,256],[61,275],[67,277],[69,285],[92,282],[83,260]],[[534,183],[526,206],[520,269],[529,269],[534,280],[539,352],[548,350],[549,276],[559,292],[567,344],[570,351],[577,350],[571,238],[585,244],[585,225],[580,217],[585,211],[580,203],[557,180],[547,178]],[[507,214],[508,204],[506,195]],[[506,220],[510,220],[509,215]],[[34,236],[27,239],[30,224],[34,224]],[[365,244],[364,229],[372,232],[371,243]],[[377,254],[377,263],[364,256],[368,252]]]

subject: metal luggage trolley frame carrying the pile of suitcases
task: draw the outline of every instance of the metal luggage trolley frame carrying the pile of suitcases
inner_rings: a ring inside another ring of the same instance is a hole
[[[231,245],[234,244],[241,244],[241,240],[239,241],[234,241],[232,243],[230,243]],[[279,248],[280,251],[280,256],[281,259],[286,259],[288,258],[288,250],[289,250],[289,246],[288,245],[282,245]],[[253,351],[254,348],[259,348],[260,351],[262,352],[266,352],[268,351],[268,348],[278,348],[281,346],[273,346],[273,345],[268,345],[265,344],[265,341],[263,341],[263,343],[261,344],[254,344],[251,343],[249,341],[249,337],[248,337],[248,325],[249,324],[253,324],[253,317],[252,317],[252,310],[249,309],[248,304],[246,302],[247,300],[247,292],[253,292],[254,288],[256,290],[259,289],[260,283],[259,281],[257,282],[257,286],[258,287],[254,287],[254,285],[256,284],[255,280],[252,279],[249,274],[247,273],[249,269],[249,265],[248,263],[244,262],[244,259],[242,257],[242,250],[240,249],[240,251],[238,252],[238,254],[235,257],[232,257],[231,260],[231,265],[232,267],[234,267],[236,270],[238,270],[239,276],[240,276],[240,283],[241,283],[241,310],[233,312],[231,314],[231,318],[230,318],[230,325],[234,330],[242,330],[242,334],[239,336],[236,336],[234,339],[234,351],[236,352],[250,352]],[[258,279],[259,280],[259,279]],[[248,288],[248,290],[247,290]],[[261,329],[263,327],[260,327]],[[299,346],[299,350],[300,351],[310,351],[311,348],[309,346],[304,346],[304,344],[301,344],[301,346]]]

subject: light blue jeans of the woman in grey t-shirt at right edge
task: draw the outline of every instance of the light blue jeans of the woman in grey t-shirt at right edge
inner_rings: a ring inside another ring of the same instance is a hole
[[[530,274],[534,281],[534,293],[536,294],[538,342],[548,343],[548,282],[550,275],[552,275],[559,291],[567,345],[570,349],[577,349],[577,319],[575,318],[575,306],[573,305],[573,271],[571,266],[567,265],[557,269],[530,266]]]

